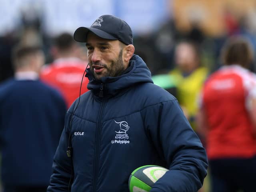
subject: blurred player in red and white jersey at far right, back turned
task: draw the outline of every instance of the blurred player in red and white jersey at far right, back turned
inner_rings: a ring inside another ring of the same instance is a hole
[[[206,135],[212,192],[255,191],[256,75],[248,70],[252,48],[242,37],[230,38],[225,66],[204,85],[198,125]]]

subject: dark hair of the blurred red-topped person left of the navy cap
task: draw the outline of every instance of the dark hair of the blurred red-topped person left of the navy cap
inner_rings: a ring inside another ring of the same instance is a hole
[[[68,51],[74,44],[76,42],[69,33],[62,33],[54,39],[54,45],[60,51]]]

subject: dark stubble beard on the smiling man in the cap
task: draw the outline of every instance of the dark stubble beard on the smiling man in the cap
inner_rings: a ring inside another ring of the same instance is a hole
[[[125,70],[124,62],[122,60],[122,54],[123,50],[120,50],[118,58],[112,61],[110,66],[98,63],[98,65],[104,66],[106,68],[106,72],[104,72],[104,74],[100,77],[94,73],[94,77],[99,80],[101,77],[117,77],[122,75]]]

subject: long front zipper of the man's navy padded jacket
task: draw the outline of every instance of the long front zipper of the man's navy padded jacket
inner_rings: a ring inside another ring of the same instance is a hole
[[[103,97],[103,87],[104,84],[101,84],[100,87],[100,97]],[[100,105],[100,111],[98,115],[98,123],[96,126],[96,146],[94,151],[94,164],[93,164],[93,177],[92,177],[92,192],[96,192],[97,180],[98,180],[98,173],[99,173],[99,158],[100,158],[100,140],[101,140],[101,131],[102,131],[102,114],[105,105],[105,100],[102,101]]]

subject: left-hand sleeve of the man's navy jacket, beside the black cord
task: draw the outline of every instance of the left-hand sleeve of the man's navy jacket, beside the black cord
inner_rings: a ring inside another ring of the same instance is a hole
[[[67,192],[68,185],[73,171],[72,158],[67,156],[68,137],[69,137],[69,122],[71,114],[67,112],[65,126],[62,131],[60,142],[56,150],[52,165],[53,173],[50,178],[50,185],[47,192]],[[70,184],[71,187],[71,184]]]

